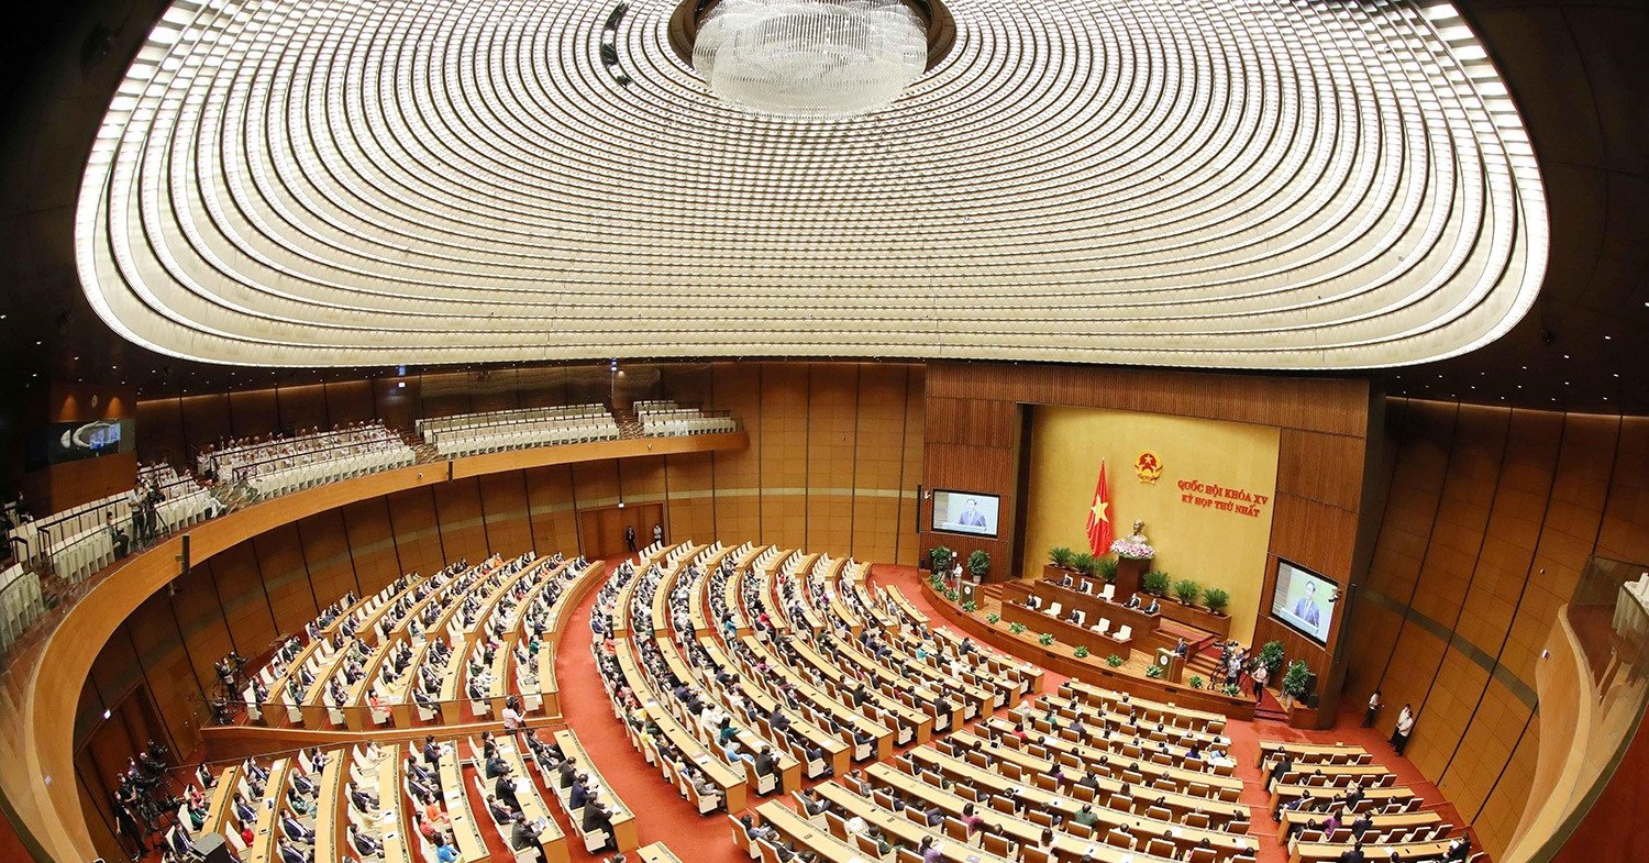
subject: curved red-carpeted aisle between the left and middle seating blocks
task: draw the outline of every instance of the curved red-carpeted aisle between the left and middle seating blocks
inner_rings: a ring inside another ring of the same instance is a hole
[[[623,558],[607,561],[612,571]],[[658,769],[630,746],[623,726],[613,716],[612,703],[595,673],[590,655],[590,609],[597,591],[572,611],[566,634],[556,647],[556,681],[561,686],[561,714],[579,736],[595,769],[618,794],[618,799],[635,812],[641,845],[665,842],[681,860],[704,863],[749,863],[749,856],[732,843],[732,830],[721,812],[699,815],[688,800],[665,782]],[[569,851],[574,861],[607,860],[608,855],[590,855],[584,843],[569,835]]]

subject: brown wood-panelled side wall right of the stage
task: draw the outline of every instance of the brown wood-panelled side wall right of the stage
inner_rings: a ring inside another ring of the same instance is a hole
[[[1558,611],[1591,554],[1649,559],[1649,421],[1393,404],[1403,421],[1388,427],[1395,472],[1369,579],[1382,602],[1357,612],[1355,690],[1384,678],[1395,708],[1436,668],[1410,752],[1497,853],[1530,792],[1534,668]],[[1428,477],[1446,479],[1431,526]]]

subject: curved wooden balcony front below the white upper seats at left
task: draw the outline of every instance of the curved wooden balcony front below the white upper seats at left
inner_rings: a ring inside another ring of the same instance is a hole
[[[455,477],[473,477],[528,467],[669,455],[686,452],[735,450],[749,446],[744,432],[689,437],[602,441],[556,447],[472,455],[432,462],[295,492],[206,521],[186,531],[191,561],[203,561],[247,538],[373,497],[439,485]],[[13,668],[25,683],[13,688],[15,703],[7,710],[7,736],[15,741],[13,769],[0,772],[10,809],[26,827],[31,851],[61,863],[92,860],[97,851],[82,827],[79,792],[74,782],[74,710],[92,662],[110,634],[152,594],[178,576],[183,535],[170,536],[142,554],[104,573],[73,609],[43,635],[33,665]],[[49,624],[46,624],[49,625]],[[30,657],[20,657],[18,663]],[[25,677],[26,675],[26,677]]]

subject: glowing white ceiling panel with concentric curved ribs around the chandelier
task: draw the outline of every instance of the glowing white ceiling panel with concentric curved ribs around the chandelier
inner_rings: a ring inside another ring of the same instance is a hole
[[[122,335],[383,365],[900,356],[1370,368],[1545,271],[1535,158],[1446,3],[956,0],[889,109],[716,101],[637,0],[178,0],[92,147]]]

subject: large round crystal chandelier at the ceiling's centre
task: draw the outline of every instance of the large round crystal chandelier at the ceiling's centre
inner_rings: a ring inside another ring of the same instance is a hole
[[[721,0],[693,45],[716,96],[788,117],[886,107],[927,56],[927,28],[902,0]]]

